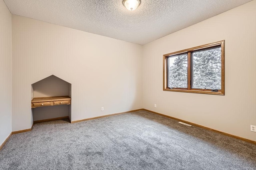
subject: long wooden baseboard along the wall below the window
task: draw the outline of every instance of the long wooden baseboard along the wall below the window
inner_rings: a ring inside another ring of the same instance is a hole
[[[205,127],[205,126],[202,126],[202,125],[198,125],[198,124],[196,124],[196,123],[184,121],[184,120],[178,119],[178,118],[176,118],[176,117],[171,117],[171,116],[164,115],[164,114],[161,114],[161,113],[157,113],[157,112],[154,112],[154,111],[150,111],[150,110],[147,110],[147,109],[141,109],[141,110],[148,111],[148,112],[151,112],[151,113],[160,115],[160,116],[168,117],[168,118],[170,118],[170,119],[174,119],[174,120],[176,120],[176,121],[184,122],[184,123],[187,123],[187,124],[190,124],[190,125],[194,125],[194,126],[196,126],[196,127],[204,128],[204,129],[206,129],[206,130],[211,130],[211,131],[214,131],[214,132],[218,132],[218,133],[224,134],[224,135],[226,135],[226,136],[230,136],[230,137],[232,137],[232,138],[236,138],[236,139],[239,139],[239,140],[243,140],[243,141],[246,141],[246,142],[249,142],[249,143],[252,143],[252,144],[255,144],[255,145],[256,145],[256,141],[254,141],[254,140],[250,140],[250,139],[246,139],[246,138],[243,138],[243,137],[240,137],[240,136],[236,136],[236,135],[233,135],[233,134],[229,134],[229,133],[226,133],[226,132],[222,132],[222,131],[220,131],[220,130],[216,130],[216,129],[213,129],[213,128],[208,128],[208,127]]]

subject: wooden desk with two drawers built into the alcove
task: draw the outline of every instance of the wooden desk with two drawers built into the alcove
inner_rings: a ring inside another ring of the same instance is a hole
[[[70,103],[71,98],[69,96],[35,97],[31,101],[31,108],[55,105],[70,105]]]

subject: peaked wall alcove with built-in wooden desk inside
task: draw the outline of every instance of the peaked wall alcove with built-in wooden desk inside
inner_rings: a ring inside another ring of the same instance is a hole
[[[34,123],[68,118],[71,120],[71,84],[51,75],[31,85]]]

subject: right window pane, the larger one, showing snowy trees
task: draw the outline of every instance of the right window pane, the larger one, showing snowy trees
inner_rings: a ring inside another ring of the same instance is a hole
[[[221,47],[192,53],[193,89],[221,89]]]

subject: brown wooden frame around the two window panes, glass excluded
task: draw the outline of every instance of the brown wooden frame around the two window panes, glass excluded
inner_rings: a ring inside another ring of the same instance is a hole
[[[164,91],[178,91],[178,92],[186,92],[186,93],[201,93],[201,94],[211,94],[211,95],[225,95],[225,77],[224,77],[224,55],[225,55],[225,48],[224,48],[224,40],[209,43],[206,45],[200,45],[197,47],[192,47],[189,49],[184,49],[180,51],[176,51],[173,53],[168,53],[163,55],[163,90]],[[212,91],[211,89],[192,89],[191,88],[191,53],[195,51],[200,51],[204,49],[210,49],[213,47],[221,47],[221,90],[219,91]],[[188,55],[188,88],[168,88],[167,86],[167,59],[170,56],[180,55],[180,54],[187,54]]]

